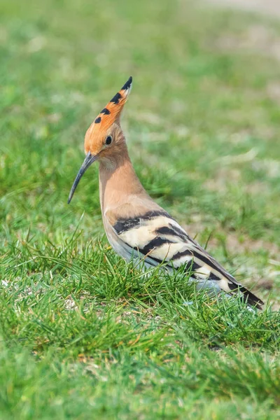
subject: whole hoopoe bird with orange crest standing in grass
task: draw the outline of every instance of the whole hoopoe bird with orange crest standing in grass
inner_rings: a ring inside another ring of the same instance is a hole
[[[183,265],[186,279],[227,295],[241,294],[261,309],[263,304],[238,283],[207,251],[189,237],[179,223],[146,193],[127,151],[120,114],[132,87],[130,77],[99,113],[85,134],[85,160],[76,176],[68,203],[90,165],[99,161],[99,197],[107,238],[125,260],[144,261],[176,270]]]

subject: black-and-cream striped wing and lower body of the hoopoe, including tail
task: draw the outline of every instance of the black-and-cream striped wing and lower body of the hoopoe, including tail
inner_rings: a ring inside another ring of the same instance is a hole
[[[132,210],[132,204],[125,204]],[[135,208],[134,207],[134,212]],[[233,293],[237,290],[244,293],[249,304],[260,307],[263,302],[253,295],[228,273],[207,251],[190,238],[172,216],[157,207],[153,211],[142,211],[142,214],[118,216],[124,214],[121,209],[107,211],[105,217],[113,229],[111,244],[116,252],[130,259],[132,256],[143,258],[148,265],[159,265],[162,262],[172,269],[184,265],[186,272],[197,281],[204,281],[209,286]],[[108,235],[110,236],[110,235]]]

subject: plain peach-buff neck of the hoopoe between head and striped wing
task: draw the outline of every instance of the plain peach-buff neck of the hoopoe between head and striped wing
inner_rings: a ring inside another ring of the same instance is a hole
[[[125,146],[122,153],[99,165],[99,195],[102,213],[130,202],[134,195],[148,195],[144,190]]]

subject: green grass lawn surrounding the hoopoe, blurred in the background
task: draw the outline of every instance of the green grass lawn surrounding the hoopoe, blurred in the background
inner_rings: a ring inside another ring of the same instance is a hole
[[[279,419],[279,45],[187,1],[1,2],[1,419]],[[264,311],[118,258],[97,167],[66,204],[130,75],[141,181]]]

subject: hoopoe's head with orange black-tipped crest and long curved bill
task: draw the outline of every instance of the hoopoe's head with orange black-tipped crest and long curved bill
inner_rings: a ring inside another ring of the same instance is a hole
[[[81,177],[93,162],[101,160],[106,165],[111,165],[113,157],[121,153],[125,137],[120,128],[120,114],[127,102],[131,87],[132,77],[130,76],[85,133],[85,160],[73,182],[68,204],[71,202]]]

